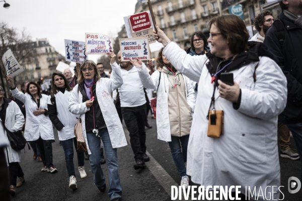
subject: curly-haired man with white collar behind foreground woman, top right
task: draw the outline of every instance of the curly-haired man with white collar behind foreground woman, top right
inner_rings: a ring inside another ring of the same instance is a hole
[[[254,26],[257,29],[258,33],[255,34],[251,40],[249,41],[256,41],[256,42],[264,42],[265,33],[267,30],[273,25],[274,17],[272,12],[265,10],[260,13],[254,19]]]

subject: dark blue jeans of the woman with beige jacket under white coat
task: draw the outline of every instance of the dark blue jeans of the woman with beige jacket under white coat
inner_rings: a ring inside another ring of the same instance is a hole
[[[173,161],[181,177],[187,175],[185,162],[187,162],[188,143],[189,135],[182,137],[171,136],[171,142],[169,142]]]

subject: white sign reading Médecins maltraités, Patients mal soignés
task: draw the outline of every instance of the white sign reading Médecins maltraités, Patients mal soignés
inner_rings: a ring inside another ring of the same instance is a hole
[[[149,44],[146,38],[120,38],[121,60],[130,59],[149,60]]]

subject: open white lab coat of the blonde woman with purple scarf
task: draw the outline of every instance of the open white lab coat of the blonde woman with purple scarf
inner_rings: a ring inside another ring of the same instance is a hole
[[[124,130],[121,124],[121,121],[118,117],[115,106],[112,102],[111,92],[116,90],[123,84],[123,77],[119,66],[116,62],[111,64],[112,73],[111,78],[100,78],[96,82],[96,93],[97,99],[102,111],[104,121],[106,123],[110,141],[113,148],[119,148],[127,146],[126,137]],[[68,110],[72,114],[81,115],[82,126],[83,126],[83,135],[87,146],[87,151],[91,154],[89,145],[87,142],[86,128],[85,128],[85,113],[90,110],[86,107],[86,103],[83,103],[83,95],[81,91],[78,93],[79,84],[75,85],[72,90],[71,97],[69,100]],[[93,121],[93,120],[92,120]]]

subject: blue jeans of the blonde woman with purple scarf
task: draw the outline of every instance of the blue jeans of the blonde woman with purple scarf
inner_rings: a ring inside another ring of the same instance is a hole
[[[91,151],[91,155],[89,155],[89,163],[93,172],[93,181],[95,185],[102,186],[106,183],[106,178],[101,167],[100,146],[102,138],[109,171],[108,195],[110,200],[115,197],[121,197],[122,185],[118,172],[117,150],[116,148],[112,148],[107,128],[99,129],[99,136],[101,136],[101,138],[96,136],[93,132],[87,132],[86,135],[88,146]]]

